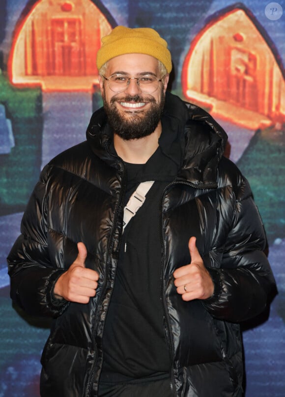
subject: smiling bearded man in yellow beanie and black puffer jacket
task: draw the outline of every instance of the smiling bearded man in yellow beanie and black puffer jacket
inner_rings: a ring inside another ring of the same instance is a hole
[[[239,323],[275,285],[250,187],[222,128],[166,92],[157,32],[116,27],[97,66],[104,108],[42,171],[8,257],[11,297],[54,317],[41,396],[241,396]]]

